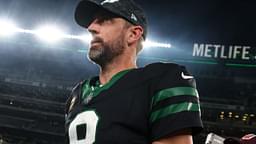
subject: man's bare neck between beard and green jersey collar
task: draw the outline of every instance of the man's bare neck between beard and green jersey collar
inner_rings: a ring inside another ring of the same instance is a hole
[[[120,56],[104,67],[100,67],[100,83],[104,85],[118,72],[136,67],[135,59],[127,60]]]

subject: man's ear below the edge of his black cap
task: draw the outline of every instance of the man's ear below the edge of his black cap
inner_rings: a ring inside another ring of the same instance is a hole
[[[143,28],[141,26],[131,26],[128,30],[128,44],[132,44],[138,41],[143,34]]]

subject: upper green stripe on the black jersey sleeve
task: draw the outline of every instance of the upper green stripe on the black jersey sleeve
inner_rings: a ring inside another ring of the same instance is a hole
[[[179,95],[191,95],[198,97],[198,92],[193,87],[174,87],[164,89],[153,96],[152,106],[161,100]]]

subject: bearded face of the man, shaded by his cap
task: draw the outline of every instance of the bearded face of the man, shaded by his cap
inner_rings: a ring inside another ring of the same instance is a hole
[[[101,11],[95,15],[88,31],[93,39],[90,43],[88,57],[101,67],[112,62],[124,52],[127,24],[124,19]]]

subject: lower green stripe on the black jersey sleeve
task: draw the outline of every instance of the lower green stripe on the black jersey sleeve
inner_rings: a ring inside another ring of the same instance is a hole
[[[183,111],[200,112],[200,106],[198,103],[192,103],[192,102],[184,102],[184,103],[169,105],[167,107],[164,107],[162,109],[152,112],[150,115],[150,121],[154,122],[170,114],[175,114]]]

